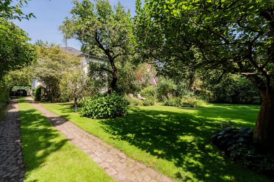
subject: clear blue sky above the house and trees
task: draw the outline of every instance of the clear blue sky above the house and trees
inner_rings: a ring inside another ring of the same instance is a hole
[[[92,1],[92,0],[91,0]],[[16,2],[16,1],[14,1]],[[25,14],[33,13],[36,17],[30,20],[14,21],[16,25],[25,30],[32,39],[55,42],[62,44],[63,36],[58,32],[58,26],[62,24],[66,16],[70,16],[68,11],[72,9],[72,0],[32,0],[28,1],[28,6],[22,11]],[[117,4],[118,0],[110,0],[111,5]],[[135,15],[135,0],[120,0],[120,2],[131,10],[131,16]],[[67,45],[80,49],[80,43],[76,40],[68,40]]]

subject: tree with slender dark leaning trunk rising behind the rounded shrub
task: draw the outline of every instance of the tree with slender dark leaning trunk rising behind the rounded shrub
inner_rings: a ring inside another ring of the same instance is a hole
[[[114,11],[108,0],[97,0],[95,4],[89,0],[73,1],[70,11],[72,18],[66,18],[59,29],[65,39],[75,38],[83,46],[98,46],[107,55],[113,75],[108,93],[112,93],[117,82],[117,69],[114,59],[120,55],[130,54],[131,18],[123,5],[118,2]]]

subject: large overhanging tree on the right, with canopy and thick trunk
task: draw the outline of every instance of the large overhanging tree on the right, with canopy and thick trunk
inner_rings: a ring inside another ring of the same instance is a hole
[[[248,78],[263,97],[254,139],[273,147],[273,4],[150,0],[142,6],[137,0],[133,41],[144,60],[153,58],[168,75],[199,68],[209,79],[228,73]]]

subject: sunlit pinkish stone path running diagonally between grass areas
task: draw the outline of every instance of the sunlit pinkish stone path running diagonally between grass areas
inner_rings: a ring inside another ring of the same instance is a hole
[[[141,162],[127,157],[124,152],[113,148],[113,146],[108,145],[98,137],[50,112],[37,102],[33,102],[31,98],[26,98],[26,100],[41,111],[50,120],[50,123],[63,133],[68,140],[89,154],[115,180],[119,182],[172,182],[168,177],[157,173]]]

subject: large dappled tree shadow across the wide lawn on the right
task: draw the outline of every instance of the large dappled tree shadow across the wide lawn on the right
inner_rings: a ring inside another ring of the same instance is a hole
[[[127,141],[158,159],[168,160],[171,165],[173,163],[174,166],[171,167],[175,170],[172,171],[172,177],[180,181],[267,181],[257,173],[225,158],[211,144],[210,135],[214,130],[221,129],[220,120],[202,116],[202,112],[205,112],[203,108],[187,109],[194,110],[194,113],[132,106],[128,116],[100,120],[100,123],[114,140]],[[245,120],[244,116],[234,117]],[[150,165],[153,166],[154,163],[151,162]],[[157,168],[157,163],[155,166]],[[195,180],[188,176],[190,172]]]

